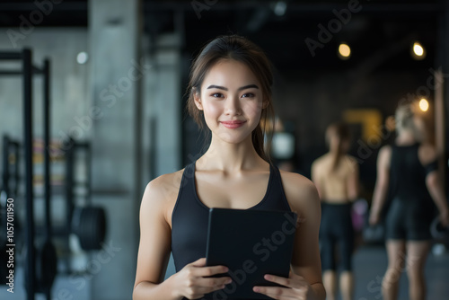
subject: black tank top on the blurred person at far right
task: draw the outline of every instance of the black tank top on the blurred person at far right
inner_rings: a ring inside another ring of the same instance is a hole
[[[426,176],[435,170],[436,164],[423,166],[419,162],[418,148],[418,143],[411,146],[392,145],[389,185],[392,199],[407,201],[409,204],[430,199]]]

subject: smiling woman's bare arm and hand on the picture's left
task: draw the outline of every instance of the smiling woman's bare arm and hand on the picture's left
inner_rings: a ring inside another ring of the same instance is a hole
[[[224,266],[206,267],[206,259],[200,258],[163,281],[172,243],[169,218],[179,186],[180,182],[172,173],[151,181],[145,189],[140,207],[140,243],[134,300],[198,299],[224,288],[231,280],[229,277],[208,278],[225,273],[228,269]]]

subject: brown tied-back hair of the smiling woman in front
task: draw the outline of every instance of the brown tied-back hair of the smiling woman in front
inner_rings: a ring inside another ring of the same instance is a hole
[[[271,85],[273,85],[273,75],[268,57],[265,53],[250,40],[238,35],[221,36],[207,43],[198,54],[190,69],[189,86],[187,94],[187,110],[189,115],[198,124],[198,127],[205,129],[203,111],[198,110],[195,105],[195,93],[201,93],[201,84],[207,71],[222,59],[233,59],[248,66],[261,84],[264,108],[262,109],[260,122],[257,128],[252,131],[252,145],[261,158],[269,162],[269,154],[265,152],[264,136],[269,124],[274,124],[274,109],[271,101]],[[272,122],[267,122],[271,119]],[[210,134],[209,131],[207,131]],[[270,139],[269,139],[270,142]]]

